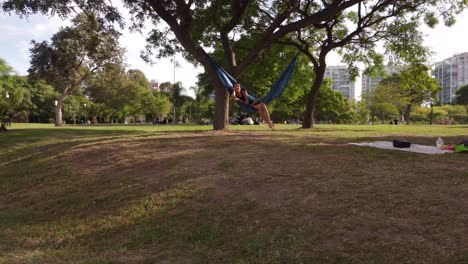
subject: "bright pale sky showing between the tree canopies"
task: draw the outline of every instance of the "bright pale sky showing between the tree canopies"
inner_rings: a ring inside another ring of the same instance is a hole
[[[128,19],[129,15],[124,14]],[[18,74],[25,75],[29,68],[29,48],[31,40],[50,40],[61,26],[69,24],[57,17],[46,17],[34,15],[28,19],[20,19],[14,14],[0,13],[0,57],[5,59]],[[129,24],[129,23],[128,23]],[[468,52],[468,10],[460,14],[457,23],[447,28],[443,24],[430,29],[422,27],[425,35],[425,45],[434,52],[432,62],[441,61],[457,53]],[[151,25],[145,28],[145,32],[151,29]],[[140,52],[145,46],[145,32],[136,33],[125,29],[120,38],[121,46],[127,50],[126,64],[129,69],[142,70],[149,80],[159,82],[182,82],[185,88],[195,86],[198,73],[202,68],[196,68],[186,62],[180,55],[176,56],[176,61],[180,65],[174,71],[174,64],[171,59],[157,60],[154,65],[144,62],[140,58]],[[328,65],[340,65],[341,60],[337,54],[331,54],[327,58]],[[175,74],[174,74],[175,73]],[[174,76],[175,75],[175,76]],[[174,78],[175,77],[175,78]],[[190,93],[190,92],[188,92]],[[360,78],[356,82],[356,95],[360,98],[361,83]]]

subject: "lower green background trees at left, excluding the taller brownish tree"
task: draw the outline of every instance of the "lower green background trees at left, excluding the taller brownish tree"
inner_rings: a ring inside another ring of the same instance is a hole
[[[42,80],[19,76],[0,58],[0,118],[10,122],[53,123],[60,93]],[[213,101],[191,87],[196,98],[185,95],[181,83],[162,83],[153,90],[140,70],[109,65],[93,74],[81,89],[64,99],[63,121],[83,123],[198,122],[210,118]]]

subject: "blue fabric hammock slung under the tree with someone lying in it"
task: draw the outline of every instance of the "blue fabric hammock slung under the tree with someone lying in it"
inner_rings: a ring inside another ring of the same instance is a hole
[[[237,81],[234,79],[234,77],[232,77],[228,72],[226,72],[223,68],[221,68],[209,56],[208,56],[208,60],[209,60],[209,62],[211,64],[211,66],[213,67],[213,69],[215,70],[216,74],[218,75],[219,79],[223,83],[224,88],[226,88],[226,90],[229,93],[232,93],[232,86]],[[286,70],[284,70],[284,72],[281,74],[281,77],[273,84],[273,86],[270,88],[270,91],[267,93],[267,95],[262,98],[263,103],[267,104],[267,103],[275,100],[276,98],[278,98],[283,93],[284,89],[286,89],[286,85],[288,84],[289,80],[292,77],[292,74],[294,72],[294,68],[296,67],[296,64],[297,64],[297,57],[295,57],[291,61],[288,68],[286,68]],[[250,93],[249,91],[247,91],[247,94],[249,96],[250,101],[253,101],[256,98],[258,98],[257,96]],[[253,108],[251,105],[248,105],[246,103],[238,101],[238,104],[241,107],[241,109],[243,111],[245,111],[245,112],[255,113],[257,111],[257,109]]]

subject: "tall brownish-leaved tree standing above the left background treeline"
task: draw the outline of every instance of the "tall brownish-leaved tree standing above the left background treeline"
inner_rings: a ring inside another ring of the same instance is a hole
[[[29,74],[45,80],[61,95],[55,109],[55,125],[62,125],[62,106],[77,94],[86,80],[106,64],[121,60],[119,33],[93,13],[81,13],[73,26],[61,28],[51,42],[32,42]]]

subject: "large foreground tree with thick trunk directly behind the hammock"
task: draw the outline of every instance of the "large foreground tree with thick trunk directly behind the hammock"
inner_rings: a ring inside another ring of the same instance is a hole
[[[211,68],[207,48],[222,47],[226,67],[235,77],[258,58],[278,39],[301,28],[329,21],[363,0],[305,1],[124,1],[135,21],[134,27],[144,26],[145,19],[154,23],[154,30],[148,37],[149,47],[155,47],[159,56],[172,56],[183,51],[190,58],[203,65],[216,87],[216,111],[214,129],[227,126],[228,94]],[[89,1],[91,2],[91,1]],[[21,15],[42,12],[58,12],[65,16],[76,7],[89,8],[91,4],[78,0],[7,0],[5,11],[16,11]],[[105,1],[93,1],[93,5],[115,19],[113,11]],[[309,12],[309,11],[313,12]],[[298,14],[305,14],[299,17]],[[168,26],[159,26],[164,21]],[[241,36],[232,37],[232,34]],[[239,39],[248,37],[253,45],[242,47]],[[242,59],[237,54],[242,53]],[[151,55],[151,53],[149,53]],[[150,56],[146,56],[149,58]]]

